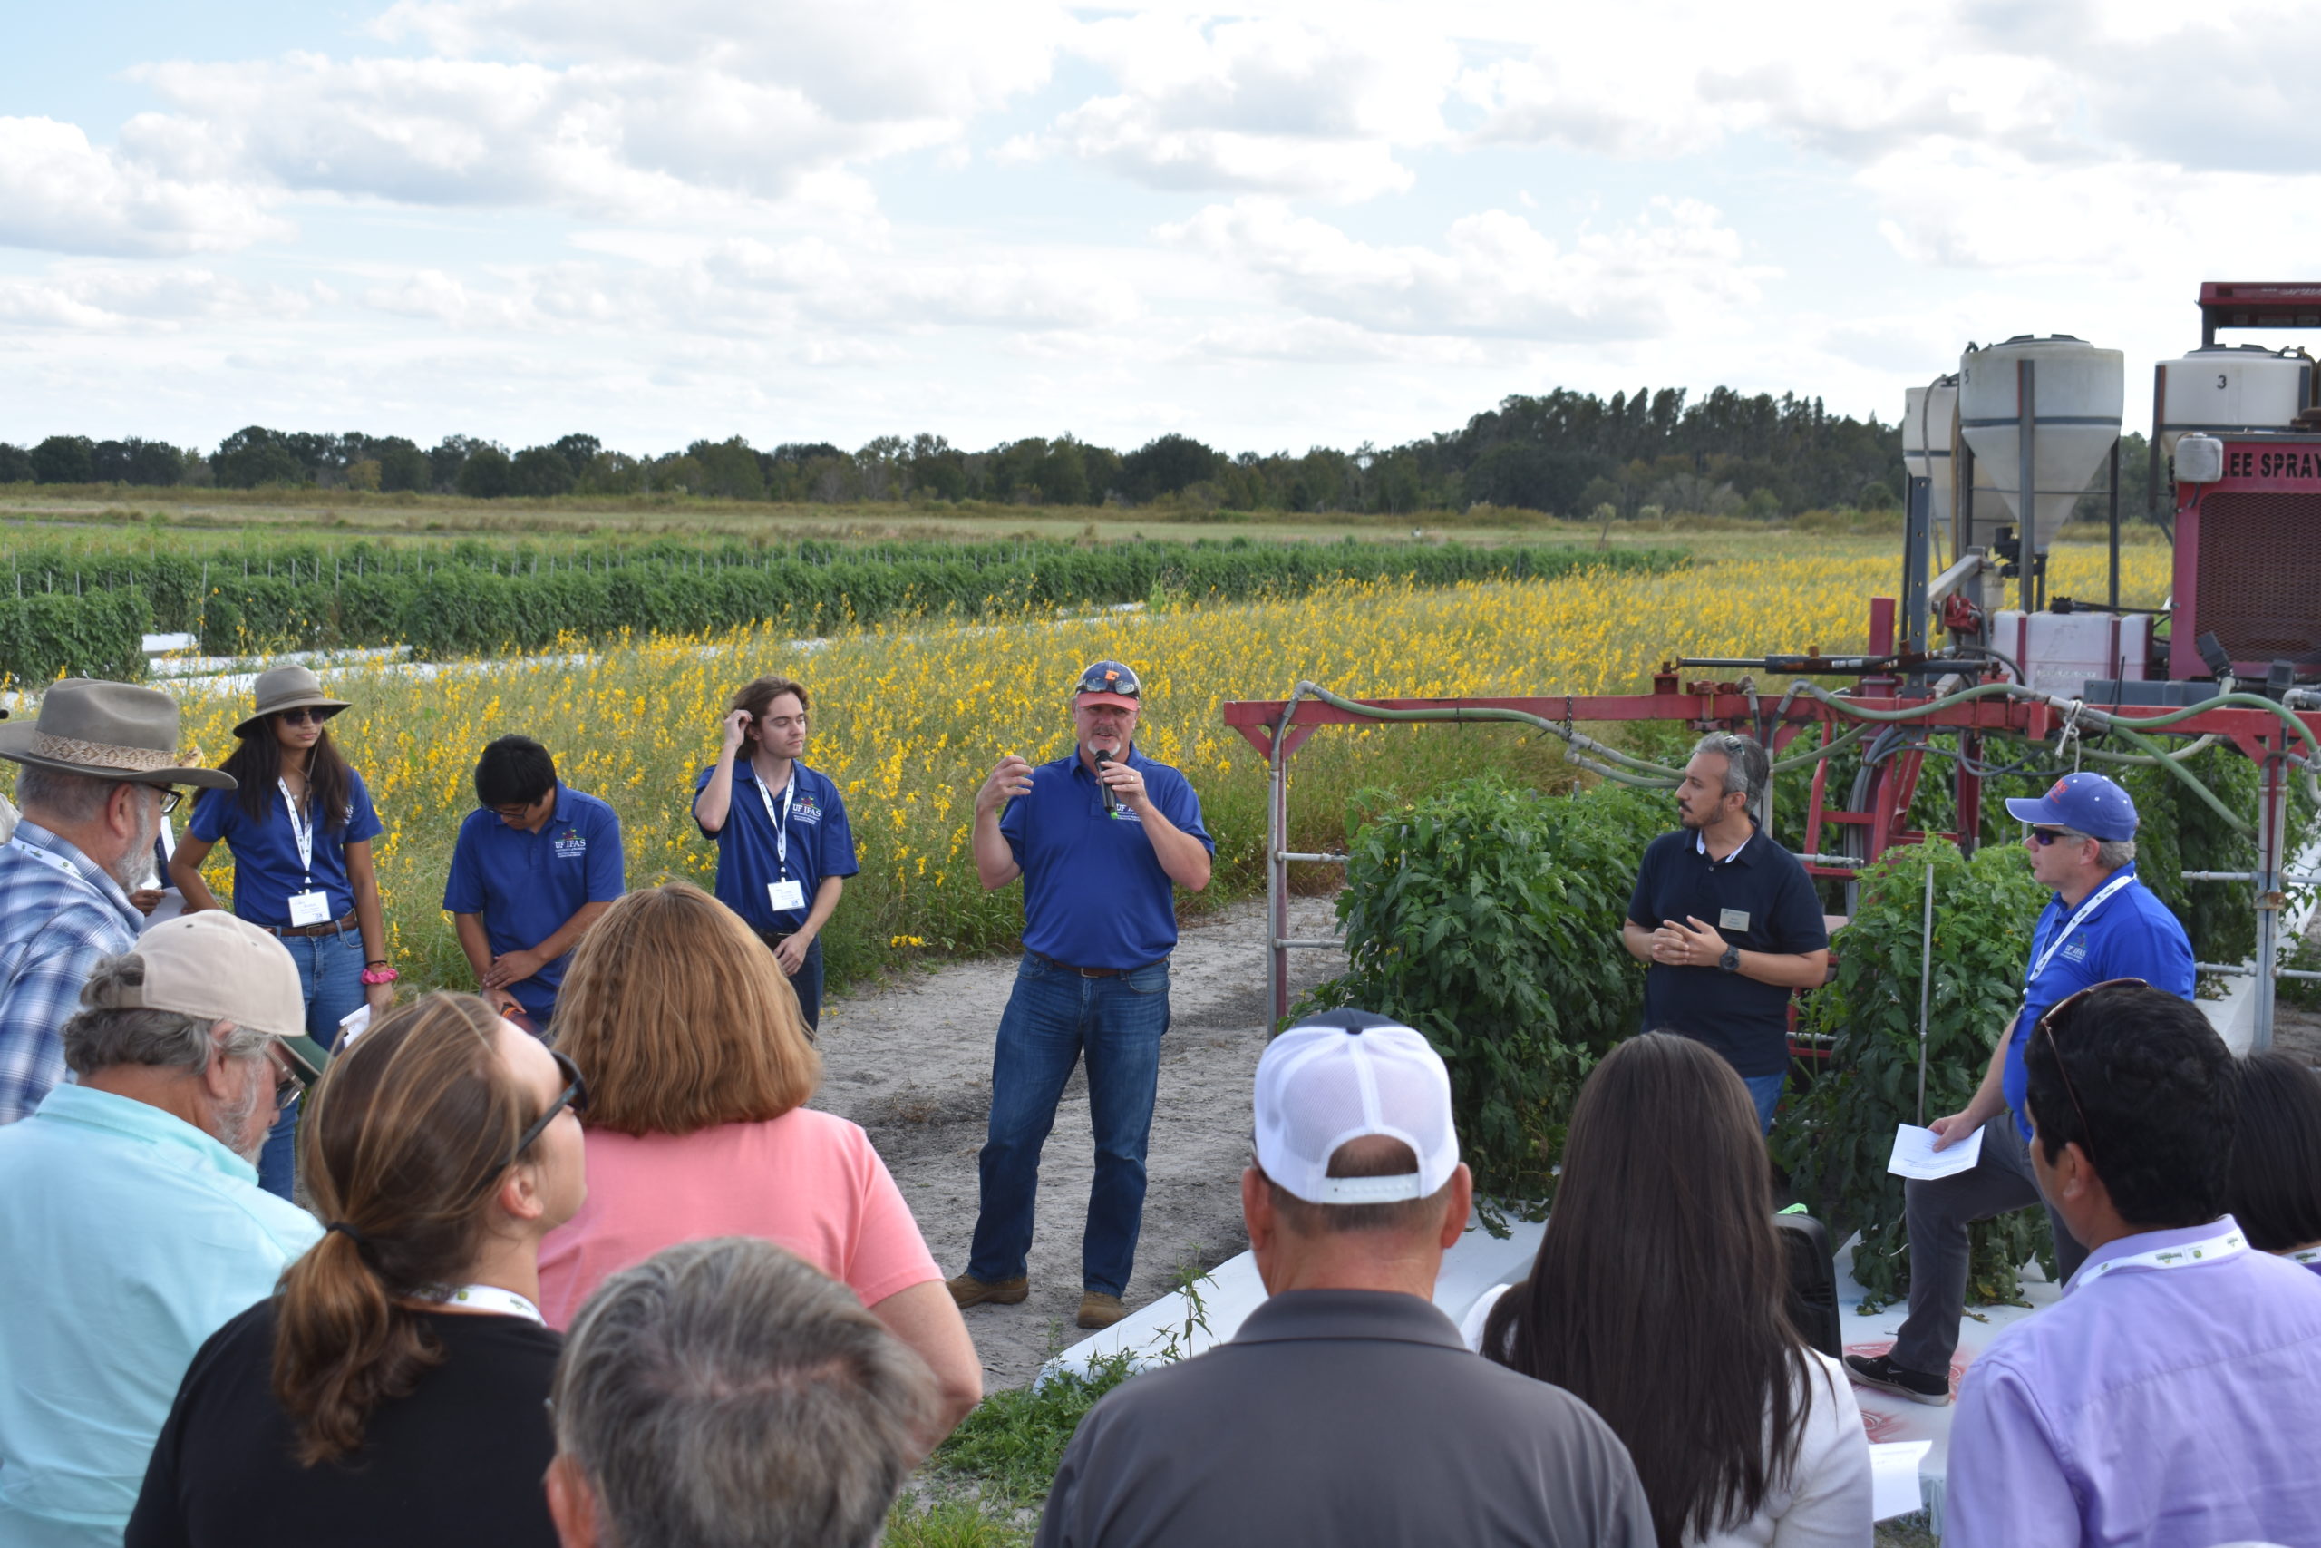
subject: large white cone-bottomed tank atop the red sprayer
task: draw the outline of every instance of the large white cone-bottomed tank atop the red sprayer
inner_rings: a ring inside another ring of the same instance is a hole
[[[2031,402],[2022,402],[2022,362]],[[2047,552],[2096,469],[2119,441],[2126,357],[2070,334],[2017,334],[1971,348],[1959,360],[1959,434],[1989,473],[2024,536],[2024,552]],[[2029,497],[2022,490],[2022,425],[2033,420]],[[1980,478],[1977,478],[1980,483]]]

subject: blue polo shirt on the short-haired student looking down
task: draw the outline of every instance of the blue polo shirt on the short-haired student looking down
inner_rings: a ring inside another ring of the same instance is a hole
[[[511,829],[476,808],[460,824],[450,849],[443,907],[483,914],[492,956],[529,952],[555,935],[583,903],[613,903],[624,891],[620,863],[620,817],[596,796],[557,784],[557,805],[538,833]],[[557,1007],[564,954],[536,975],[508,984],[536,1021]]]

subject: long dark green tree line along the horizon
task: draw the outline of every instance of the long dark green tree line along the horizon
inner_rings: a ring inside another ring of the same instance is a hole
[[[49,436],[0,443],[0,485],[209,485],[464,494],[692,494],[736,501],[991,501],[1193,511],[1381,513],[1478,504],[1562,518],[1745,515],[1892,508],[1901,427],[1829,413],[1817,397],[1715,388],[1506,397],[1455,432],[1402,446],[1223,453],[1165,434],[1121,453],[1070,434],[966,450],[945,436],[880,436],[856,450],[740,436],[631,455],[571,434],[511,450],[478,436],[422,448],[406,436],[251,425],[216,450],[165,441]]]

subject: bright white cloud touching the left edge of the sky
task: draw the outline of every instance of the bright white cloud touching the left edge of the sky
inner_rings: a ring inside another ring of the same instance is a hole
[[[93,146],[72,123],[0,118],[0,246],[216,253],[288,234],[269,204],[248,181],[179,176],[132,151]]]

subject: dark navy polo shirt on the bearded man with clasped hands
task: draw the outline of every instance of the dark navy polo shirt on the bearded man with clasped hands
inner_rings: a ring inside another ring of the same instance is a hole
[[[1722,861],[1708,859],[1694,829],[1655,838],[1636,868],[1627,917],[1648,931],[1662,919],[1699,919],[1743,952],[1803,954],[1829,945],[1813,877],[1755,829]],[[1789,1068],[1789,993],[1715,963],[1650,963],[1641,1030],[1706,1042],[1743,1077],[1780,1075]]]

